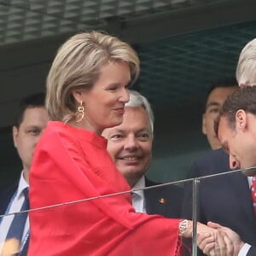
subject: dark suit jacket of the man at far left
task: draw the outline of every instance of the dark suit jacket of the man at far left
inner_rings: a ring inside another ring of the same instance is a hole
[[[18,183],[15,183],[10,186],[3,186],[0,188],[0,215],[6,212],[7,207],[9,206],[9,201],[15,194],[15,191],[18,189]],[[26,256],[28,249],[29,239],[27,239],[26,244],[22,252],[17,253],[17,256]]]

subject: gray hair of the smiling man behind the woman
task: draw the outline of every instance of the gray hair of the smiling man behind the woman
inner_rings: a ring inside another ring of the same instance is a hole
[[[142,96],[140,93],[138,93],[136,90],[130,90],[130,100],[129,102],[125,103],[125,107],[131,107],[131,108],[142,107],[146,110],[146,113],[148,114],[150,128],[151,128],[151,134],[153,136],[154,113],[148,100],[144,96]]]

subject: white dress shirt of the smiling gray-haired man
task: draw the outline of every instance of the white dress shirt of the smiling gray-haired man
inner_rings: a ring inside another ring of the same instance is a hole
[[[145,188],[145,177],[141,177],[132,189]],[[144,190],[133,191],[132,193],[132,206],[136,212],[146,212]]]

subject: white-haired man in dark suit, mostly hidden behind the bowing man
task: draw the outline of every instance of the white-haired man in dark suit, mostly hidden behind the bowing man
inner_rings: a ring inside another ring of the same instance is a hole
[[[236,80],[239,86],[250,86],[256,84],[256,76],[255,76],[255,67],[256,67],[256,39],[254,38],[245,47],[241,50],[241,54],[239,56],[239,60],[236,67]],[[219,172],[224,172],[224,166],[221,167],[218,164],[218,158],[214,157],[213,154],[222,155],[220,158],[222,162],[229,162],[228,155],[225,155],[222,149],[218,150],[219,152],[208,154],[205,160],[201,160],[201,164],[196,164],[191,170],[191,174],[189,177],[198,177],[207,174],[214,174],[218,173],[218,171],[214,172],[214,169],[219,170]],[[219,156],[218,156],[219,157]],[[227,160],[224,160],[224,159]],[[239,161],[236,158],[230,157],[230,168],[235,169],[239,167]],[[216,166],[216,167],[215,167]],[[227,166],[227,164],[226,164]],[[193,170],[194,169],[194,170]],[[196,169],[201,169],[201,171],[196,171]],[[207,172],[207,170],[212,169],[212,172]],[[203,171],[205,170],[205,171]],[[223,171],[222,171],[223,170]],[[228,170],[228,169],[226,169]],[[220,181],[223,179],[223,181]],[[242,252],[239,256],[251,256],[256,255],[256,218],[253,214],[252,209],[252,199],[250,196],[250,187],[252,184],[252,177],[242,177],[241,174],[231,173],[230,177],[222,176],[222,177],[215,177],[216,182],[212,179],[212,186],[205,186],[208,193],[203,192],[203,184],[200,184],[200,189],[202,187],[202,191],[200,192],[200,201],[199,201],[199,211],[201,212],[208,212],[204,213],[210,218],[214,218],[217,223],[223,224],[225,226],[230,226],[236,230],[236,232],[241,236],[241,239],[251,244],[252,247],[250,248],[248,254]],[[230,182],[229,182],[230,181]],[[213,183],[214,182],[214,183]],[[210,180],[209,182],[210,183]],[[187,186],[188,188],[189,186]],[[214,189],[215,188],[215,189]],[[217,192],[218,196],[215,196]],[[232,195],[232,193],[234,195]],[[189,217],[189,212],[191,212],[191,206],[189,205],[189,193],[191,193],[190,189],[185,189],[185,196],[184,196],[184,207],[183,207],[183,216]],[[204,198],[204,194],[207,196]],[[204,198],[204,201],[219,201],[221,202],[216,205],[215,210],[212,208],[209,211],[206,211],[205,208],[209,206],[209,203],[201,202],[201,198]],[[226,198],[225,204],[223,203],[223,199]],[[206,207],[204,207],[206,205]],[[225,205],[224,211],[222,206]],[[190,210],[189,210],[190,208]],[[220,210],[221,209],[221,210]],[[230,209],[230,210],[229,210]],[[213,212],[212,212],[213,211]],[[211,213],[209,213],[211,212]],[[213,216],[213,214],[215,214]],[[191,215],[190,215],[191,216]],[[201,215],[200,215],[201,216]],[[238,218],[239,217],[239,218]],[[201,220],[201,218],[199,218]],[[213,220],[213,219],[212,219]],[[205,218],[206,221],[206,218]]]

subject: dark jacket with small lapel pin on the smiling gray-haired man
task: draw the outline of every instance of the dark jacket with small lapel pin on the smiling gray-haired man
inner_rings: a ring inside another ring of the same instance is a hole
[[[146,187],[154,183],[145,177]],[[177,185],[168,185],[144,190],[146,211],[148,214],[160,214],[166,218],[180,218],[183,203],[183,188]]]

